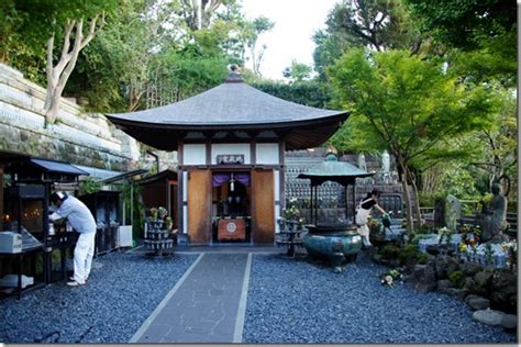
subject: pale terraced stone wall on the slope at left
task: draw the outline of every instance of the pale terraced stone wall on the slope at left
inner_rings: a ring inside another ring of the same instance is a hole
[[[104,115],[86,113],[64,98],[57,121],[45,127],[45,92],[20,71],[0,64],[0,149],[115,171],[154,165],[141,144]],[[162,169],[175,166],[175,154],[155,153]]]

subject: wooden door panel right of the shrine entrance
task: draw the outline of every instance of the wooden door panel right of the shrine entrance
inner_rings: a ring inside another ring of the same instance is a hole
[[[273,170],[252,171],[252,233],[254,244],[275,240],[275,192]]]

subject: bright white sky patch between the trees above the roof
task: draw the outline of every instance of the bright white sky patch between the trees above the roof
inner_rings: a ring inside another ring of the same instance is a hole
[[[257,47],[267,45],[260,65],[265,78],[284,79],[282,70],[295,59],[313,64],[312,36],[325,27],[325,18],[337,0],[242,0],[246,18],[259,15],[275,22],[275,26],[260,35]],[[251,61],[246,67],[252,68]]]

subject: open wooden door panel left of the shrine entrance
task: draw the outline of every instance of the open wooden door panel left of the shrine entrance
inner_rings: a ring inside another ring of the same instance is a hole
[[[188,171],[188,235],[191,245],[209,245],[212,234],[212,176]]]

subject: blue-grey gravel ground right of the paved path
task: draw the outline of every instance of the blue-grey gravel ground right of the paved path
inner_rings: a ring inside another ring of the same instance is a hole
[[[364,254],[342,273],[306,259],[255,255],[244,343],[513,343],[455,298],[387,288]]]

